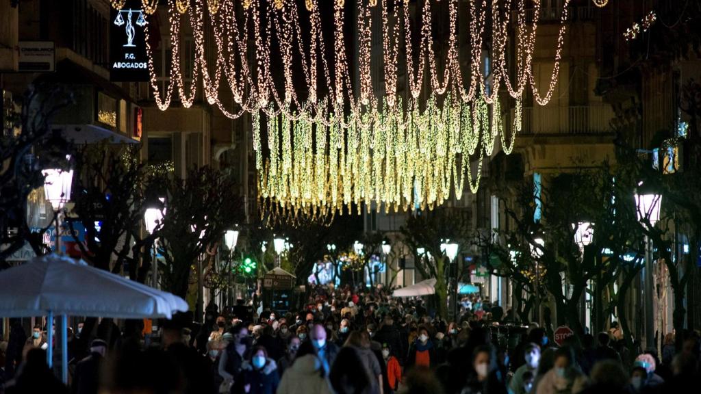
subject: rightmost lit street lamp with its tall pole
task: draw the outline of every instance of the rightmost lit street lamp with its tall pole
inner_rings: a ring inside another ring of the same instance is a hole
[[[636,193],[634,195],[638,222],[649,224],[652,229],[660,220],[660,205],[662,195],[654,193]],[[645,273],[644,273],[644,304],[645,304],[645,338],[646,346],[651,347],[655,341],[654,312],[653,312],[653,259],[650,237],[645,234]]]

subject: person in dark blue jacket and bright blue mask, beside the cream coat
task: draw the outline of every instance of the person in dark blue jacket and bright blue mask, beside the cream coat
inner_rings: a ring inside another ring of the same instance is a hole
[[[280,384],[280,375],[275,361],[268,358],[263,346],[257,346],[251,352],[251,357],[242,366],[242,385],[236,390],[246,394],[275,394]]]

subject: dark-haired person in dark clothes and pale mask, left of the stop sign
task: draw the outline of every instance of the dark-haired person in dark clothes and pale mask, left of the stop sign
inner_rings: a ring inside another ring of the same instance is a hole
[[[477,346],[472,353],[472,374],[461,394],[506,394],[506,384],[496,365],[496,351],[489,344]]]

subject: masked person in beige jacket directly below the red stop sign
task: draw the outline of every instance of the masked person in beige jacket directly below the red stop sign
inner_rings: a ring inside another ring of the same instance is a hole
[[[586,376],[574,363],[574,352],[568,346],[555,351],[554,365],[538,381],[537,394],[579,393],[586,385]]]

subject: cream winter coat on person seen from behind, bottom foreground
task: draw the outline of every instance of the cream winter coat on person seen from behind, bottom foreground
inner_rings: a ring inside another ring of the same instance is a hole
[[[283,374],[277,394],[297,393],[332,394],[315,355],[297,358]]]

